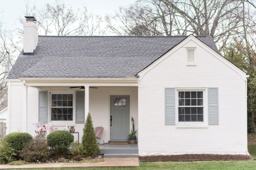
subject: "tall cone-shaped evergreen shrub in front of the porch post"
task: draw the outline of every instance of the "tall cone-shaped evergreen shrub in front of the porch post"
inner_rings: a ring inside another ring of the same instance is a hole
[[[88,157],[95,156],[100,153],[90,113],[87,115],[86,124],[83,128],[82,145],[84,154]]]

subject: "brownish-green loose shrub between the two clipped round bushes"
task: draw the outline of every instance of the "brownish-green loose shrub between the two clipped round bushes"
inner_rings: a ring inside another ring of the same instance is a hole
[[[39,135],[30,140],[21,150],[21,158],[28,162],[46,161],[49,154],[50,152],[45,138]]]

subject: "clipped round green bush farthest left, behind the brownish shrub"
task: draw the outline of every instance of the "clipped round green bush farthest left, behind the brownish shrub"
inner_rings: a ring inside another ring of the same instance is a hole
[[[8,143],[10,147],[14,148],[18,153],[23,149],[23,147],[28,144],[28,142],[32,139],[32,136],[27,132],[13,132],[6,137],[4,137],[3,141]]]

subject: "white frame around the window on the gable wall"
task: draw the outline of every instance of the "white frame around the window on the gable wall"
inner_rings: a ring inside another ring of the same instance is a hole
[[[203,106],[204,106],[204,121],[179,121],[179,92],[180,91],[202,91],[203,92]],[[208,101],[207,88],[179,88],[175,92],[175,123],[176,125],[208,125]]]

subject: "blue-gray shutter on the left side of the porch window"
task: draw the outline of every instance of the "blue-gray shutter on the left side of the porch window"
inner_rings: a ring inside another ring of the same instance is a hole
[[[38,122],[48,123],[48,91],[38,92]]]

